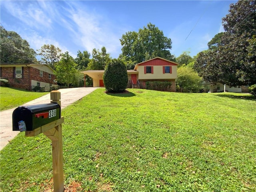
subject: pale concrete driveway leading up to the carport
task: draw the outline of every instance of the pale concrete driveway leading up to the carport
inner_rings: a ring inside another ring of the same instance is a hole
[[[58,91],[61,94],[61,108],[63,109],[66,106],[69,106],[96,89],[97,87],[59,89]],[[22,106],[45,103],[50,103],[50,93],[25,103]],[[14,109],[16,108],[0,112],[0,150],[2,150],[10,140],[20,133],[19,131],[12,131],[12,112]]]

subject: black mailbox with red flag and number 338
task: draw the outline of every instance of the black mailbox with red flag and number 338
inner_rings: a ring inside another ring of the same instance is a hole
[[[12,113],[12,130],[32,131],[58,119],[60,119],[58,103],[20,106]]]

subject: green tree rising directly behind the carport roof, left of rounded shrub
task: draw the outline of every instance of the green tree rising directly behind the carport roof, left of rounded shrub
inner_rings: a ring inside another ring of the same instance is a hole
[[[87,70],[104,70],[106,65],[111,61],[110,54],[107,53],[105,47],[100,50],[95,48],[92,50],[92,59],[88,64]]]

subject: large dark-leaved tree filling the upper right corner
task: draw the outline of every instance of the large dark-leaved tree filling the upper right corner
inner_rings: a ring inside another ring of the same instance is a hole
[[[230,5],[230,13],[222,19],[225,32],[220,43],[201,52],[196,60],[194,68],[204,80],[229,86],[256,83],[255,10],[255,0]]]

